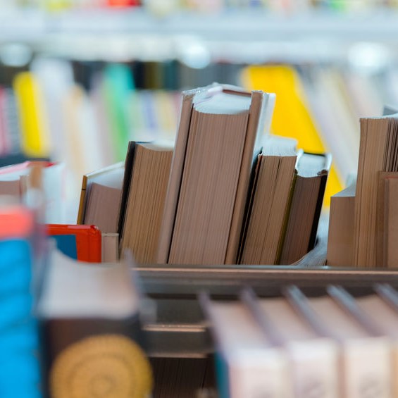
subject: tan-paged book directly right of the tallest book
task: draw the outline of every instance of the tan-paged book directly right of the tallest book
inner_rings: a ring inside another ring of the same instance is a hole
[[[268,137],[258,156],[242,238],[242,264],[278,264],[297,162],[294,139]]]

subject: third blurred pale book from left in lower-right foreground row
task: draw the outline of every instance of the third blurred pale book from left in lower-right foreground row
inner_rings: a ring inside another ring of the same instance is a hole
[[[298,287],[285,290],[287,299],[306,318],[318,335],[337,341],[340,347],[340,394],[363,397],[373,391],[377,397],[390,397],[390,345],[371,325],[356,316],[355,309],[331,295],[304,297]],[[375,366],[375,363],[378,366]]]

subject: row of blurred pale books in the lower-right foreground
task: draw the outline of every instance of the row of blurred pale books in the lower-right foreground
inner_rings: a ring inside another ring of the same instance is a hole
[[[397,397],[398,292],[363,297],[330,285],[308,297],[287,286],[259,299],[201,295],[216,347],[220,398]]]

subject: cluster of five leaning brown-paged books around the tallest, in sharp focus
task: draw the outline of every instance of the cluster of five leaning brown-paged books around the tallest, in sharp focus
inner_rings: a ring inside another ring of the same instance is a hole
[[[274,101],[217,84],[184,92],[175,145],[130,142],[124,173],[85,175],[78,222],[117,232],[138,263],[299,260],[315,244],[330,156],[268,135]]]

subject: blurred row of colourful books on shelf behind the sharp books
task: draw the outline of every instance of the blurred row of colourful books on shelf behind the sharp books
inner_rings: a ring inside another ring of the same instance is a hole
[[[397,80],[394,67],[211,63],[196,69],[178,61],[36,57],[23,68],[0,68],[1,163],[62,161],[77,196],[82,175],[123,161],[130,140],[174,139],[182,89],[223,82],[275,92],[272,132],[294,137],[304,151],[332,153],[328,203],[356,171],[359,118],[397,104]]]

